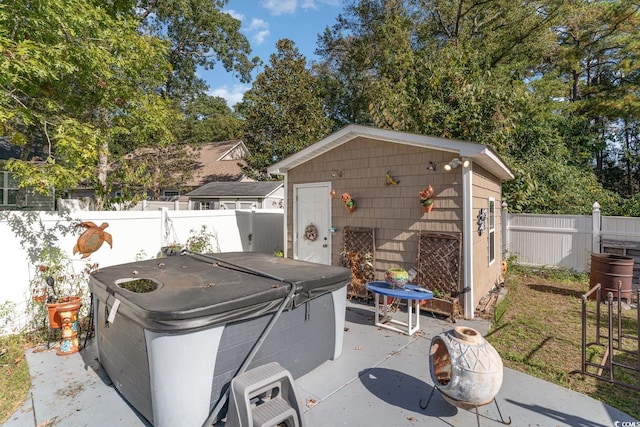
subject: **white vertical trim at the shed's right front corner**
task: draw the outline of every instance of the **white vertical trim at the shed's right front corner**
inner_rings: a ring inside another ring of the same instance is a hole
[[[462,248],[464,318],[473,319],[473,162],[462,169]]]

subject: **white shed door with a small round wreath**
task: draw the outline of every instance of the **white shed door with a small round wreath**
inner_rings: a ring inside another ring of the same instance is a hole
[[[294,259],[331,264],[330,191],[329,182],[293,186]]]

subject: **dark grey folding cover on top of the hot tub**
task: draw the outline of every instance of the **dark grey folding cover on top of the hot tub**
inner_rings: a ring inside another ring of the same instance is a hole
[[[123,281],[151,279],[157,289],[136,293]],[[89,289],[117,312],[152,331],[192,330],[274,312],[296,288],[292,305],[346,286],[343,267],[267,254],[185,254],[121,264],[91,274]]]

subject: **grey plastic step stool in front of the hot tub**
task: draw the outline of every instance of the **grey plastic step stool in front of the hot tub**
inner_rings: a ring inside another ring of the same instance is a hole
[[[246,371],[231,380],[228,427],[303,427],[291,373],[279,363]]]

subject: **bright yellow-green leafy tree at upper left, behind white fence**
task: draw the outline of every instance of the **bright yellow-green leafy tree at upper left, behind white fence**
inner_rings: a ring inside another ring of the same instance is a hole
[[[137,26],[84,0],[0,7],[0,120],[23,148],[7,165],[20,186],[106,192],[111,118],[168,70],[163,43]]]

